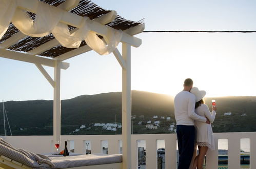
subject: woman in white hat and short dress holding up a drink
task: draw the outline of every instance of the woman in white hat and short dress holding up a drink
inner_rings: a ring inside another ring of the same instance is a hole
[[[192,94],[195,95],[195,113],[207,117],[209,121],[212,123],[214,121],[216,115],[216,107],[212,107],[212,112],[210,112],[208,106],[204,103],[203,97],[206,95],[205,91],[200,91],[198,88],[192,88],[190,90]],[[195,157],[193,163],[193,169],[198,167],[198,169],[203,168],[204,157],[206,155],[207,150],[210,148],[211,150],[215,149],[214,140],[212,136],[211,124],[195,121],[195,130],[196,137],[195,142],[198,145],[199,155]]]

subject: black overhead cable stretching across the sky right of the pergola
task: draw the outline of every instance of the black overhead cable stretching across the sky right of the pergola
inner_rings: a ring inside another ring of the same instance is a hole
[[[144,33],[195,33],[195,32],[205,32],[205,33],[256,33],[256,31],[143,31]]]

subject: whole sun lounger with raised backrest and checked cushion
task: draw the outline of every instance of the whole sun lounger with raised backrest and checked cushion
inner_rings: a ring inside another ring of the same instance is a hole
[[[17,149],[0,138],[0,167],[3,168],[122,168],[122,155],[47,157]]]

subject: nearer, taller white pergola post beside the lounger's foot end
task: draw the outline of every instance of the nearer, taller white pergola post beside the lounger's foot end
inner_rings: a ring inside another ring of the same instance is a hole
[[[123,43],[126,69],[122,71],[123,169],[131,168],[131,45]]]

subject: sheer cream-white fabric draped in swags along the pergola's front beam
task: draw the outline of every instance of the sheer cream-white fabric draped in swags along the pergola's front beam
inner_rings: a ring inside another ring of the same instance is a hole
[[[64,11],[59,8],[50,8],[49,5],[38,3],[35,20],[22,9],[17,8],[18,0],[0,0],[0,38],[5,34],[10,22],[22,33],[32,37],[42,37],[50,33],[66,48],[78,48],[81,41],[99,53],[111,53],[120,43],[122,31],[110,28],[104,36],[104,41],[90,30],[91,20],[84,17],[79,29],[69,32],[66,24],[60,23]],[[106,42],[106,43],[105,43]]]

